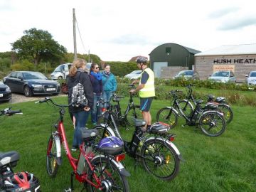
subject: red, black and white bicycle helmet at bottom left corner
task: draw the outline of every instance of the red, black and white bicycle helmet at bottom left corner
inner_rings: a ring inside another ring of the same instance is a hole
[[[4,181],[4,191],[40,191],[38,178],[28,172],[16,173]]]

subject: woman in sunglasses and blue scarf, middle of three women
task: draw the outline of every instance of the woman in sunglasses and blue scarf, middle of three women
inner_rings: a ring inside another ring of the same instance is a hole
[[[97,63],[92,63],[91,68],[90,68],[90,80],[92,82],[92,87],[93,87],[93,107],[91,110],[91,117],[92,117],[92,124],[97,124],[97,115],[99,114],[98,112],[98,106],[97,103],[102,97],[102,75],[99,72],[100,68]]]

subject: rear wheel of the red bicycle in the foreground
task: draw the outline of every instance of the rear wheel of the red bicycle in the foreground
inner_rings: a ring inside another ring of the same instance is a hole
[[[93,178],[93,174],[96,174],[98,178],[104,179],[105,181],[110,181],[112,188],[110,191],[129,191],[129,185],[126,176],[120,174],[118,167],[110,161],[107,164],[108,160],[105,157],[96,157],[92,160],[91,164],[95,167],[93,173],[92,171],[88,171],[88,178],[93,183],[97,184],[97,182]],[[104,170],[104,171],[103,171]],[[97,188],[93,188],[90,183],[87,184],[87,190],[90,192],[100,191]]]

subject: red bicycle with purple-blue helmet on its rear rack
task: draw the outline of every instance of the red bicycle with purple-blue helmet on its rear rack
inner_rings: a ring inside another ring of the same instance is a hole
[[[60,108],[60,118],[55,125],[55,132],[50,135],[47,154],[46,167],[50,177],[55,177],[58,167],[62,164],[61,144],[65,154],[68,156],[70,165],[73,168],[71,173],[71,186],[65,191],[73,191],[73,177],[80,183],[84,183],[82,191],[129,191],[127,176],[129,172],[124,169],[120,161],[124,159],[122,154],[123,144],[119,144],[115,139],[109,137],[107,142],[95,144],[97,137],[96,129],[87,129],[81,127],[83,143],[79,147],[78,159],[75,159],[70,153],[68,142],[65,136],[63,117],[65,107],[69,105],[58,105],[50,97],[38,101],[39,103],[49,102]]]

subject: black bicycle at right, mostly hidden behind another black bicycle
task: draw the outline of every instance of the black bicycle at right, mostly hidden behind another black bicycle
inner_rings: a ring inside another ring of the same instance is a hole
[[[196,106],[196,99],[193,97],[192,87],[193,85],[191,84],[186,85],[186,88],[188,89],[186,98],[184,100],[178,101],[184,114],[186,114],[187,117],[191,117],[191,114],[194,110],[193,105]],[[225,97],[217,97],[216,100],[214,100],[214,95],[208,95],[206,107],[204,107],[205,110],[208,110],[208,105],[216,105],[216,110],[223,113],[223,117],[226,123],[230,123],[233,120],[233,110],[231,109],[230,105],[225,102]]]

